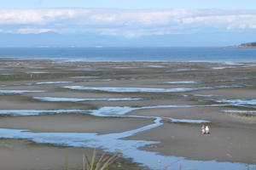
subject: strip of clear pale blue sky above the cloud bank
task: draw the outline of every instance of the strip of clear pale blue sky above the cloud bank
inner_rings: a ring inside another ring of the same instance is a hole
[[[255,8],[255,0],[1,0],[0,9],[26,8]]]

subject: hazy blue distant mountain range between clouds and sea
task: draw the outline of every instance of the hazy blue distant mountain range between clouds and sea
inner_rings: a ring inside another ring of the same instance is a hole
[[[137,38],[95,34],[58,34],[53,31],[39,34],[10,34],[0,32],[0,48],[84,48],[84,47],[227,47],[253,42],[256,32],[220,32],[196,34],[166,34]]]

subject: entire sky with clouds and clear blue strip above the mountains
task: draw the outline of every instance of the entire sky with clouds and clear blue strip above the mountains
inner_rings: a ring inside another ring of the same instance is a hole
[[[256,0],[0,0],[0,32],[141,37],[255,32]]]

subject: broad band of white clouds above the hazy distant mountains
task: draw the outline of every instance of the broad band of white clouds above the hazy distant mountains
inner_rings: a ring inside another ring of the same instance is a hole
[[[0,10],[3,30],[96,32],[137,37],[148,34],[255,29],[256,9],[37,8]]]

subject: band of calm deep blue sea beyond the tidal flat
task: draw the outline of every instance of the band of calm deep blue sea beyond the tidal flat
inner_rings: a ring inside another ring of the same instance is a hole
[[[0,48],[0,58],[85,61],[256,61],[256,48]]]

